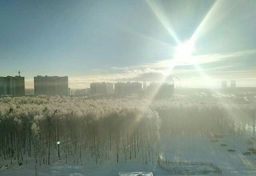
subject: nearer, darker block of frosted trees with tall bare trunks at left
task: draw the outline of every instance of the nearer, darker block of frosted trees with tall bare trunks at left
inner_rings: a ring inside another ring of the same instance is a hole
[[[97,164],[120,155],[146,164],[159,152],[160,118],[139,101],[5,96],[0,104],[0,156],[11,164],[34,157],[36,167],[69,158],[82,165],[82,153]]]

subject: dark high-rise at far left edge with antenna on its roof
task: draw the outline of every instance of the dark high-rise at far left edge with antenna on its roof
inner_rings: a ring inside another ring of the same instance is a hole
[[[25,79],[22,76],[0,77],[0,94],[24,96]]]

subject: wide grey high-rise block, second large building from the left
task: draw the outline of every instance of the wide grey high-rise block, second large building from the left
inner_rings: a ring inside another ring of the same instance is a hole
[[[35,76],[35,95],[68,96],[68,76]]]

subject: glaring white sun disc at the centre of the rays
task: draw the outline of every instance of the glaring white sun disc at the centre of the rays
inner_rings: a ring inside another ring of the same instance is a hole
[[[175,59],[177,62],[180,64],[195,64],[195,60],[192,58],[192,53],[195,51],[193,42],[184,42],[175,49]]]

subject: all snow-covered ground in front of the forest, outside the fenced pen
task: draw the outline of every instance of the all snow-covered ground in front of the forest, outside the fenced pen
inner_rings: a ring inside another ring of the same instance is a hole
[[[161,157],[169,161],[182,162],[212,162],[222,170],[222,176],[255,176],[256,175],[256,154],[243,155],[248,147],[256,148],[256,142],[248,145],[246,141],[250,137],[224,137],[218,138],[219,142],[212,142],[208,137],[164,137],[162,138]],[[227,146],[220,146],[227,144]],[[234,149],[235,152],[228,152],[228,149]],[[71,157],[71,156],[70,156]],[[62,157],[64,159],[64,156]],[[52,158],[50,158],[52,160]],[[154,176],[174,175],[162,170],[156,160],[154,163],[148,161],[142,164],[141,159],[127,160],[125,156],[120,156],[117,163],[116,158],[103,160],[102,164],[96,164],[94,157],[83,155],[83,165],[72,162],[72,158],[65,160],[50,161],[50,166],[42,164],[37,166],[38,176],[117,176],[119,172],[153,172]],[[10,160],[4,160],[0,157],[0,176],[32,176],[35,175],[34,159],[29,158],[28,164],[23,162],[22,166]],[[8,165],[8,166],[4,166]],[[182,166],[183,168],[184,166]],[[177,175],[177,174],[176,174]],[[217,176],[219,174],[204,174],[208,176]]]

